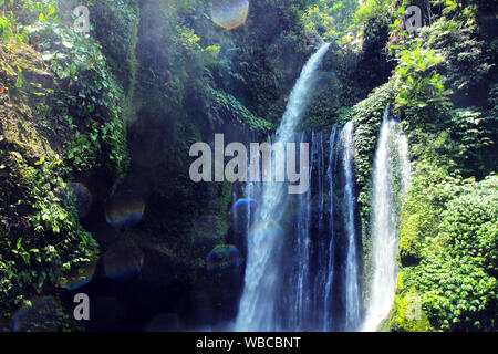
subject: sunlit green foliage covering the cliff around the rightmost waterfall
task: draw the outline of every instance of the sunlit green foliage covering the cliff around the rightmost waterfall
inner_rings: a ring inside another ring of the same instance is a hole
[[[371,158],[391,103],[409,138],[414,179],[402,211],[403,273],[384,330],[489,331],[497,306],[496,177],[464,178],[496,170],[496,67],[477,12],[453,1],[444,11],[437,7],[430,9],[430,25],[415,34],[405,33],[402,21],[394,23],[387,46],[396,67],[390,82],[355,106],[359,204],[366,222]],[[390,1],[367,1],[357,20],[384,10],[398,20],[404,12]],[[411,296],[422,304],[422,322],[405,314]]]

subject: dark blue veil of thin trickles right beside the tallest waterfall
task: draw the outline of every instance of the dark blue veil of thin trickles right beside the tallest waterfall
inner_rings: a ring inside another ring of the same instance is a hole
[[[298,197],[290,275],[284,285],[283,310],[290,312],[283,329],[323,331],[328,326],[323,294],[328,285],[329,230],[325,228],[325,168],[323,133],[311,135],[312,188]]]

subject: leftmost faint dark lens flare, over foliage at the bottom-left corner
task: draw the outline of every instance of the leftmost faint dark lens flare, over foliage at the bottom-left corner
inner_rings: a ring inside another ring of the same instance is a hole
[[[29,300],[12,317],[13,332],[55,332],[62,315],[61,306],[52,296]]]

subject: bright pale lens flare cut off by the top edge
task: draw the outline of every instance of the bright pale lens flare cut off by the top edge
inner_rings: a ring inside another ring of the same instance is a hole
[[[249,0],[214,0],[211,6],[212,22],[220,28],[231,31],[247,21]]]

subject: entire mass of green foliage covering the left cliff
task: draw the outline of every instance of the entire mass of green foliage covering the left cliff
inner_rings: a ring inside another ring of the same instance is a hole
[[[30,299],[51,293],[58,300],[75,270],[95,266],[98,246],[80,223],[66,181],[101,173],[111,189],[126,169],[123,87],[98,42],[74,31],[72,19],[61,21],[58,6],[11,1],[1,17],[11,31],[3,31],[1,44],[1,84],[8,94],[2,100],[9,102],[6,107],[17,106],[2,115],[19,121],[22,133],[17,139],[15,131],[2,126],[8,139],[0,149],[7,178],[0,186],[2,330],[20,306],[31,305]],[[79,329],[70,313],[24,330]]]

